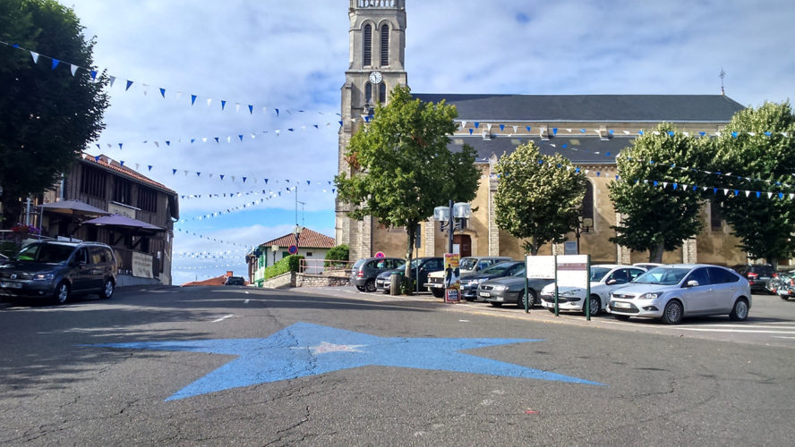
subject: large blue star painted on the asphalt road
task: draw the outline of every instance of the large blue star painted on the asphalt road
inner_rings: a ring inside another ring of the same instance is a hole
[[[536,339],[378,337],[329,326],[296,323],[266,338],[108,343],[95,346],[235,355],[167,399],[218,392],[254,384],[321,375],[365,366],[411,367],[461,373],[594,384],[585,379],[522,367],[462,353],[488,346],[540,342]]]

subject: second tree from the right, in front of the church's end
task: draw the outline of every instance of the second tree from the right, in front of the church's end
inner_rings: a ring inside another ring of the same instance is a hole
[[[635,251],[649,251],[649,262],[662,262],[663,251],[678,249],[702,229],[701,191],[713,142],[686,136],[668,123],[646,131],[617,158],[620,180],[609,185],[613,206],[624,218],[611,228],[611,242]]]

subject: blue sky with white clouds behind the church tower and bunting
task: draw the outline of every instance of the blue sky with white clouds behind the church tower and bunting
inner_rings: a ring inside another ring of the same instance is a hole
[[[88,152],[194,196],[180,200],[174,283],[244,274],[245,248],[295,225],[296,182],[299,223],[334,236],[348,2],[62,3],[117,77]],[[407,0],[406,13],[419,93],[717,94],[721,70],[743,105],[795,91],[791,2]]]

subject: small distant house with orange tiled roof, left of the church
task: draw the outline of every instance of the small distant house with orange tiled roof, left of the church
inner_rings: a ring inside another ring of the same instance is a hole
[[[323,271],[322,260],[326,258],[329,249],[334,248],[334,238],[306,227],[296,225],[296,228],[300,228],[301,231],[297,233],[294,231],[274,240],[262,242],[246,255],[249,283],[262,287],[265,268],[273,266],[278,260],[291,254],[303,256],[303,273],[320,274]],[[295,253],[289,251],[292,246],[295,246]]]

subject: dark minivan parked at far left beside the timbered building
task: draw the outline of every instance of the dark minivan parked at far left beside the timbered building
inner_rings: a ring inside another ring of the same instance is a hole
[[[108,299],[116,273],[113,250],[105,244],[39,240],[0,265],[0,295],[58,304],[87,293]]]

